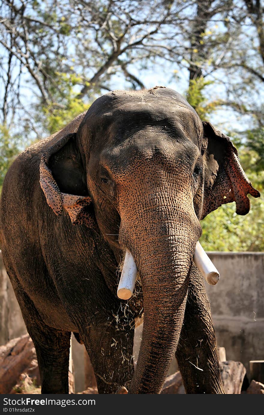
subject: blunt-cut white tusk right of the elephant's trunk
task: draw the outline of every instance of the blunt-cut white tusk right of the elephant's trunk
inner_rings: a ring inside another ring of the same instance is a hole
[[[213,265],[211,259],[203,250],[199,241],[197,242],[194,251],[194,264],[197,266],[203,278],[208,282],[208,284],[215,285],[217,283],[220,278],[220,274],[217,271],[216,267]]]

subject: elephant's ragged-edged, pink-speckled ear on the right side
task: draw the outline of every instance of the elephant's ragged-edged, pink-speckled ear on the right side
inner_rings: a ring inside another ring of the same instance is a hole
[[[237,149],[230,138],[213,127],[210,122],[203,122],[204,141],[208,140],[206,149],[206,170],[203,192],[203,219],[208,213],[224,203],[236,203],[236,213],[246,215],[250,202],[247,194],[258,198],[258,190],[252,187],[239,162]]]

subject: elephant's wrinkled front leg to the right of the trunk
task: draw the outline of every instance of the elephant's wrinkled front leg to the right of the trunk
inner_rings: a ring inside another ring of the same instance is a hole
[[[203,278],[193,264],[184,322],[175,353],[186,393],[225,393]]]

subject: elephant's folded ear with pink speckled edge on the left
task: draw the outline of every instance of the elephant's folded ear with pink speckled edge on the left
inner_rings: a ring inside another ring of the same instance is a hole
[[[41,189],[53,212],[61,215],[65,209],[73,224],[97,229],[75,133],[64,136],[42,155],[39,171]]]

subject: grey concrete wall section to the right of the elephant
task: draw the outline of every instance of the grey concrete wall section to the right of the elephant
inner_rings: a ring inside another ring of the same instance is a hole
[[[264,359],[264,252],[208,252],[220,272],[205,283],[218,346],[228,360]]]

